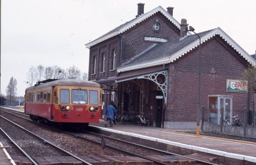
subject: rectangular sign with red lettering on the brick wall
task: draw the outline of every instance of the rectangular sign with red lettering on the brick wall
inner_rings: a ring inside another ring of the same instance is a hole
[[[245,80],[230,80],[226,81],[226,91],[227,92],[248,92],[248,82]]]

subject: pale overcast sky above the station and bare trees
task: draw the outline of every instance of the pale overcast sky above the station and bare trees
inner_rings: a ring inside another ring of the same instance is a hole
[[[88,72],[84,44],[135,18],[138,3],[144,12],[174,7],[174,18],[187,19],[197,33],[220,27],[255,54],[255,0],[1,0],[1,94],[13,77],[23,96],[30,66]]]

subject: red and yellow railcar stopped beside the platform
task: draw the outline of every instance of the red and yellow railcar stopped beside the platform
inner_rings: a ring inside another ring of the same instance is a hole
[[[102,114],[100,84],[77,79],[45,80],[28,87],[26,114],[34,121],[58,124],[99,122]]]

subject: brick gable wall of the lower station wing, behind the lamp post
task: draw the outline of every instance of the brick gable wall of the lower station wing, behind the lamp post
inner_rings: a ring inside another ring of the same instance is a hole
[[[170,122],[194,122],[198,103],[199,49],[193,49],[168,70],[168,106],[166,120]],[[214,37],[201,45],[201,105],[208,112],[208,95],[232,95],[233,112],[243,116],[247,106],[247,93],[226,92],[226,79],[241,79],[246,66],[238,53]]]

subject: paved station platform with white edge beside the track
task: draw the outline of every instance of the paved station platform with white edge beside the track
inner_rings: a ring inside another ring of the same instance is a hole
[[[226,158],[245,160],[252,164],[256,164],[256,143],[211,138],[203,135],[200,135],[199,138],[196,137],[196,135],[179,133],[177,130],[168,130],[150,126],[137,126],[135,124],[116,124],[113,125],[113,127],[108,125],[108,127],[105,128],[104,120],[100,120],[100,123],[97,124],[90,123],[90,126],[93,126],[98,130],[130,135],[149,141],[157,141],[159,143],[173,145],[175,147],[181,147],[202,153],[215,154]]]

